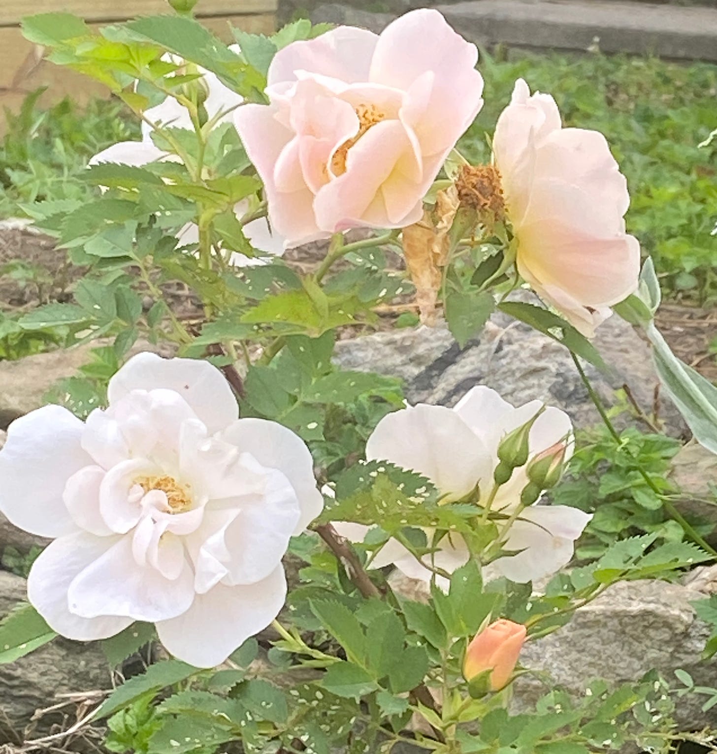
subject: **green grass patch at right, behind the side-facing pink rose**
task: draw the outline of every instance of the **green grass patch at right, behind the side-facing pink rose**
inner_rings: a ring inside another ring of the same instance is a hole
[[[488,159],[492,130],[522,77],[555,97],[565,124],[605,133],[628,179],[627,227],[653,256],[669,293],[717,300],[717,66],[655,58],[522,55],[500,62],[482,55],[485,106],[462,149]]]

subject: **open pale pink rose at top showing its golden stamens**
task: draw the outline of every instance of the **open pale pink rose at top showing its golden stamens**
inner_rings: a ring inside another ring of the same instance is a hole
[[[478,51],[438,11],[378,36],[340,26],[278,51],[269,105],[234,115],[287,247],[347,228],[402,228],[482,106]]]

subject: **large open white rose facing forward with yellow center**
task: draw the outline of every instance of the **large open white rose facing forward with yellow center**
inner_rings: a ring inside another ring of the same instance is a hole
[[[309,450],[238,418],[205,361],[133,357],[86,423],[60,406],[14,421],[0,510],[54,541],[29,601],[69,639],[156,624],[181,660],[212,667],[278,615],[289,538],[322,510]]]

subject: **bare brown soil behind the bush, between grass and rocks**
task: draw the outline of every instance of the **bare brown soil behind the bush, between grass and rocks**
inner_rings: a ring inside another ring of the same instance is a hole
[[[0,270],[2,265],[20,259],[47,271],[50,282],[38,290],[33,283],[23,285],[22,281],[0,274],[0,311],[25,310],[37,305],[40,299],[68,299],[68,290],[78,277],[82,277],[82,269],[66,265],[65,254],[55,248],[52,238],[23,225],[2,225]],[[355,232],[355,238],[362,238],[360,232]],[[308,244],[291,250],[285,259],[297,271],[306,273],[315,270],[325,252],[325,243]],[[387,260],[391,268],[403,267],[402,259],[394,253],[389,252]],[[198,302],[186,287],[174,285],[167,293],[178,317],[183,320],[201,318]],[[413,302],[405,300],[381,308],[380,329],[389,329],[395,317],[403,311],[415,311]],[[717,382],[717,307],[700,308],[685,303],[666,302],[657,313],[657,326],[677,356],[707,379]],[[346,339],[358,334],[362,334],[361,329],[349,327],[340,333],[340,337]]]

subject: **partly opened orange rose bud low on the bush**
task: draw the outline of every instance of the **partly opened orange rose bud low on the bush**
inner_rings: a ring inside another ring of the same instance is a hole
[[[491,691],[500,691],[509,682],[518,664],[526,636],[525,626],[501,619],[475,634],[463,659],[463,676],[469,681],[491,670]]]

